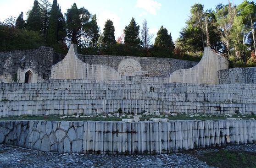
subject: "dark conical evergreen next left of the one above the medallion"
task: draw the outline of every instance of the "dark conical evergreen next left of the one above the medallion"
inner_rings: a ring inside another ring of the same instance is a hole
[[[102,41],[106,48],[117,43],[115,39],[115,27],[111,20],[107,20],[105,23]]]

